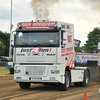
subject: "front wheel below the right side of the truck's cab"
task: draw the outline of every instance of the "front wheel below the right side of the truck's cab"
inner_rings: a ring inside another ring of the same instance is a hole
[[[61,91],[67,91],[70,88],[70,74],[68,71],[65,72],[65,83],[60,84],[60,90]]]

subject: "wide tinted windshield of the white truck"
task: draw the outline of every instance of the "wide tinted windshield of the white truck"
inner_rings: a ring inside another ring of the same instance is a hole
[[[17,32],[17,47],[58,47],[59,32]]]

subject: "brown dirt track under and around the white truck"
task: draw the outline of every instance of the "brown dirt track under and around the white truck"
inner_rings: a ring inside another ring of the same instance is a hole
[[[90,83],[88,87],[71,85],[68,91],[60,91],[57,85],[31,84],[23,90],[13,77],[0,77],[0,100],[83,100],[84,92],[88,100],[100,100],[100,83]]]

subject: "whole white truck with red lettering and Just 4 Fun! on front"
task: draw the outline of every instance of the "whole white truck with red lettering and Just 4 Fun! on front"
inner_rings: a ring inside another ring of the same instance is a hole
[[[74,25],[61,21],[19,22],[14,46],[14,81],[22,89],[31,83],[59,84],[60,90],[88,86],[87,67],[74,65]]]

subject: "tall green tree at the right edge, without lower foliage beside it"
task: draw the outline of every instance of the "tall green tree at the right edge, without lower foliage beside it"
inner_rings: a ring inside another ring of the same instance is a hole
[[[96,50],[97,43],[100,42],[100,29],[98,27],[94,28],[93,31],[89,32],[88,40],[84,45],[85,52],[93,53]]]

